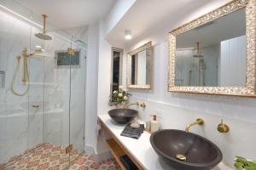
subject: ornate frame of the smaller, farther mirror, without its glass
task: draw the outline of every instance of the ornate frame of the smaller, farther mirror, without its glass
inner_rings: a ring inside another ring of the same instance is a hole
[[[150,82],[146,85],[131,85],[131,62],[129,61],[129,55],[138,54],[143,50],[149,49],[150,50]],[[127,88],[139,88],[139,89],[151,89],[152,82],[153,82],[153,48],[152,42],[147,42],[143,46],[136,48],[127,54]]]

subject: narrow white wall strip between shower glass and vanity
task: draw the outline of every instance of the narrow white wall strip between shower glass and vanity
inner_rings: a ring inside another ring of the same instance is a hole
[[[98,74],[99,24],[89,26],[88,55],[86,65],[86,110],[85,110],[85,150],[95,152],[97,120],[97,74]]]

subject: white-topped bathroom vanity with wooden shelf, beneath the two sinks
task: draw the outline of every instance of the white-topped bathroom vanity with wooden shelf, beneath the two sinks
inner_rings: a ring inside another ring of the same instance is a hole
[[[113,157],[116,159],[122,169],[125,169],[125,167],[120,161],[119,156],[126,154],[140,170],[172,170],[169,165],[160,160],[152,148],[149,141],[150,133],[145,131],[139,139],[131,139],[120,136],[120,133],[124,130],[125,125],[119,125],[113,122],[113,120],[111,120],[110,116],[107,114],[99,115],[98,118],[104,133],[108,133],[108,135],[111,137],[110,139],[106,139],[108,149],[111,151]],[[231,170],[231,168],[226,167],[224,163],[221,162],[212,170]]]

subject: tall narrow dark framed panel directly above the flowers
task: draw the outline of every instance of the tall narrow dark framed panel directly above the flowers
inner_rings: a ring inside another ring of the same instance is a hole
[[[110,96],[113,91],[122,88],[123,78],[123,49],[111,48],[111,74],[110,74]]]

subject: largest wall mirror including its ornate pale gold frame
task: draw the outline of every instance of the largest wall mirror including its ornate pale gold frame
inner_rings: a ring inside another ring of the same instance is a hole
[[[169,34],[169,91],[255,96],[255,1],[235,0]]]

